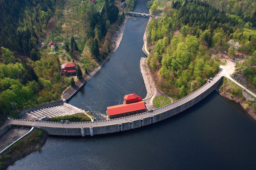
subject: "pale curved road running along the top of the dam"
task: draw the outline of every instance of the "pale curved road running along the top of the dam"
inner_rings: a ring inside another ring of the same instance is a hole
[[[84,122],[84,123],[54,123],[54,122],[34,122],[34,121],[23,121],[23,120],[14,120],[11,119],[6,122],[5,125],[24,125],[24,126],[37,126],[37,127],[61,127],[61,128],[72,128],[72,127],[97,127],[97,126],[106,126],[106,125],[112,125],[112,124],[118,124],[122,122],[130,122],[134,120],[138,120],[144,117],[149,117],[151,115],[157,115],[159,113],[165,112],[167,110],[171,110],[174,107],[180,106],[189,100],[195,98],[196,96],[200,95],[204,91],[206,91],[208,88],[210,88],[212,85],[215,84],[221,77],[223,76],[223,72],[220,72],[218,76],[213,78],[213,80],[210,83],[207,83],[204,85],[202,88],[197,90],[196,92],[192,93],[188,97],[181,99],[179,101],[176,101],[175,103],[172,103],[168,106],[159,108],[154,110],[153,112],[146,112],[141,115],[135,115],[135,116],[130,116],[127,118],[120,118],[120,119],[114,119],[114,120],[108,120],[108,121],[99,121],[99,122]]]

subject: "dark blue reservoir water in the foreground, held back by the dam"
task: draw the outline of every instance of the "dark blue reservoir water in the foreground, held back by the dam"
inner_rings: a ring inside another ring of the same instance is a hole
[[[49,137],[9,169],[255,169],[256,121],[212,92],[162,122],[120,133]]]

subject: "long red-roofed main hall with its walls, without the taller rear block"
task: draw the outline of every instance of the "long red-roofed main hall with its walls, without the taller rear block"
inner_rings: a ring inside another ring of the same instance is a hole
[[[107,107],[107,115],[109,116],[109,119],[115,119],[119,117],[139,114],[145,112],[145,109],[146,107],[144,101],[139,101]]]

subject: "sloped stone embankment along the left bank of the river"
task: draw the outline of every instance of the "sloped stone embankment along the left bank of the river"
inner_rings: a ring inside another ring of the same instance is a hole
[[[88,75],[85,74],[83,76],[83,78],[81,80],[76,81],[76,83],[72,86],[69,86],[61,95],[61,98],[63,101],[68,102],[69,100],[71,100],[77,92],[79,92],[84,85],[86,84],[87,81],[90,80],[90,78],[96,74],[101,67],[108,61],[108,59],[110,58],[110,56],[112,55],[113,52],[116,51],[116,49],[118,48],[122,37],[123,37],[123,32],[124,32],[124,28],[125,28],[125,24],[127,22],[128,16],[125,16],[123,23],[121,24],[121,26],[119,26],[115,33],[112,36],[112,40],[111,40],[111,51],[108,54],[108,56],[100,63],[100,65],[98,67],[96,67],[94,70],[89,71]]]

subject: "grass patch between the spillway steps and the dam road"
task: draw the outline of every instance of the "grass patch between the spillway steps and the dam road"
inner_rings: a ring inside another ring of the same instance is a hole
[[[69,120],[70,122],[88,122],[92,121],[90,117],[85,115],[84,113],[78,113],[75,115],[65,115],[52,117],[49,121],[51,122],[60,122],[61,120]]]

